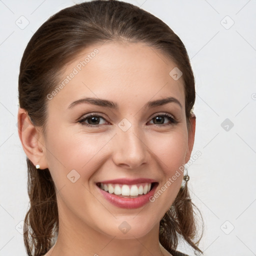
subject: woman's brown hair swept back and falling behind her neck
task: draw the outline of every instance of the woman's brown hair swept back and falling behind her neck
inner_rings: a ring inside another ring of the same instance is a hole
[[[45,131],[46,95],[58,84],[63,67],[84,48],[104,41],[144,42],[176,63],[182,71],[190,129],[195,89],[185,46],[159,18],[117,0],[93,0],[62,9],[33,34],[23,53],[18,77],[19,106],[26,110],[32,123]],[[38,171],[26,160],[30,207],[24,219],[29,227],[24,232],[24,244],[28,255],[42,255],[53,245],[58,233],[56,191],[49,170]],[[202,235],[195,241],[197,222],[193,207],[185,184],[160,221],[159,241],[173,255],[179,237],[202,253],[197,247]]]

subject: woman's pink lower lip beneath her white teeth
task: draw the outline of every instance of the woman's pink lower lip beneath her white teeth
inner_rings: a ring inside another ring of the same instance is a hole
[[[113,205],[120,208],[134,209],[134,208],[142,207],[143,205],[149,202],[149,197],[154,194],[157,184],[155,183],[153,188],[148,193],[139,195],[138,197],[133,197],[133,198],[120,197],[116,194],[110,194],[105,190],[102,190],[97,185],[96,187],[99,189],[99,191],[104,196],[104,198],[108,200],[110,203],[112,203]]]

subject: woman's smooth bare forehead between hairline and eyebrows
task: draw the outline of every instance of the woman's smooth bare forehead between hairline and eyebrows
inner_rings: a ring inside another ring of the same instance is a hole
[[[50,103],[66,105],[79,96],[127,103],[127,98],[148,101],[168,95],[184,105],[183,79],[172,78],[173,68],[176,64],[170,58],[144,43],[98,43],[65,66],[61,89]]]

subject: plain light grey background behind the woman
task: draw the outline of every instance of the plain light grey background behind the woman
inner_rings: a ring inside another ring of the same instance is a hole
[[[50,15],[78,2],[0,0],[0,255],[26,255],[17,231],[28,207],[25,154],[16,127],[20,59]],[[188,184],[205,223],[200,248],[206,256],[256,255],[256,1],[128,2],[166,22],[191,60],[196,79],[192,154],[199,150],[201,156],[188,168]],[[222,127],[226,118],[229,123]],[[185,244],[178,248],[193,254]]]

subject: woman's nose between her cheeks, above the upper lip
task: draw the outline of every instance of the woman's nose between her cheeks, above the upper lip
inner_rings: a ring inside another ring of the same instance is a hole
[[[115,135],[113,161],[117,166],[135,169],[149,159],[148,147],[142,132],[131,126],[128,130],[118,130]]]

